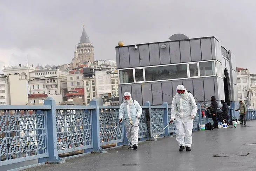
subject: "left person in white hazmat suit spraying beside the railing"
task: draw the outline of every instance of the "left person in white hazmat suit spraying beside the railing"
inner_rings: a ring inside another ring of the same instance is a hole
[[[124,127],[126,130],[126,137],[129,140],[130,147],[129,150],[136,150],[138,147],[138,132],[139,132],[139,118],[141,116],[141,106],[136,101],[133,100],[129,92],[125,92],[123,95],[124,102],[120,105],[119,108],[119,122],[124,120]],[[134,126],[132,126],[133,124]]]

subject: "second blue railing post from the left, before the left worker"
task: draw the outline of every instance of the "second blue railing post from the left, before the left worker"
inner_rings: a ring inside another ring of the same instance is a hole
[[[90,105],[95,105],[96,109],[92,110],[92,143],[94,153],[106,153],[100,146],[100,109],[98,101],[93,98]]]

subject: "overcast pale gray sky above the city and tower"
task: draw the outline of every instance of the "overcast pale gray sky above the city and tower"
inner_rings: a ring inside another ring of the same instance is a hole
[[[256,73],[256,1],[252,0],[1,0],[0,68],[20,62],[65,64],[82,25],[94,59],[115,59],[115,46],[215,36],[236,55],[237,67]],[[253,41],[254,40],[254,41]]]

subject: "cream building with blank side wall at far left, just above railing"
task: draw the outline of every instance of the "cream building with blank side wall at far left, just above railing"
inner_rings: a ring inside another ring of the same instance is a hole
[[[0,104],[28,104],[28,80],[25,75],[4,75],[0,77]]]

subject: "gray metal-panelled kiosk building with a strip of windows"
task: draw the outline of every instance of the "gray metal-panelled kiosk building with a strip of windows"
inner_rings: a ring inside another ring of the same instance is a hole
[[[183,84],[197,103],[210,104],[210,97],[215,96],[219,105],[223,99],[231,108],[238,107],[236,62],[231,51],[215,37],[189,39],[175,34],[169,40],[115,48],[120,102],[129,91],[141,105],[146,101],[171,104],[170,96]]]

